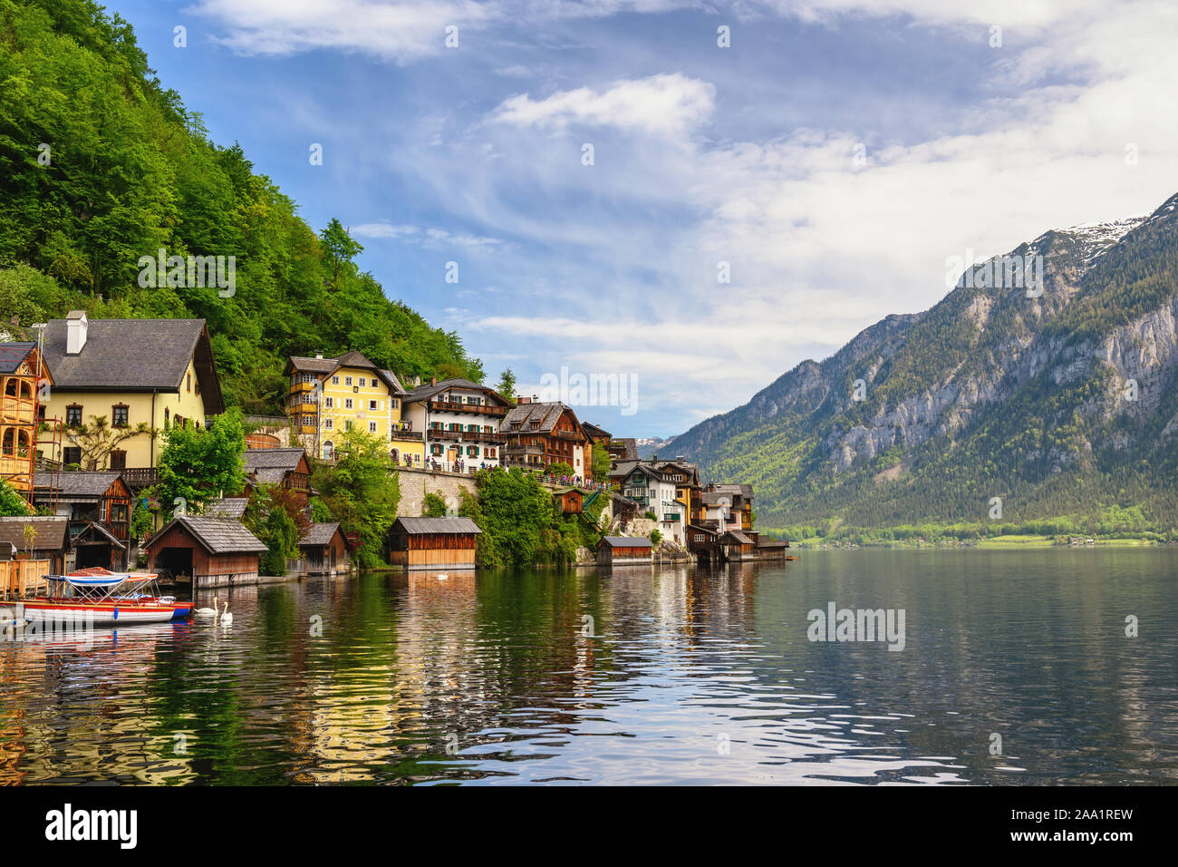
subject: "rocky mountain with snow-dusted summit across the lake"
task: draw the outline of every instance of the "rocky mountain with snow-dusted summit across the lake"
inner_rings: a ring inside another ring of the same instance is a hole
[[[769,527],[986,521],[992,498],[1007,521],[1178,527],[1176,210],[972,265],[931,309],[803,361],[674,451],[752,482]],[[1041,263],[1041,295],[1004,261]]]

